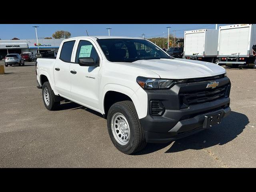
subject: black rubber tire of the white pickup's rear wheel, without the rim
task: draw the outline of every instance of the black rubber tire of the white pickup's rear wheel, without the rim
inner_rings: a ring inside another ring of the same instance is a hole
[[[45,98],[44,98],[44,90],[47,89],[48,93],[49,93],[49,104],[46,104]],[[50,86],[49,82],[44,82],[43,87],[42,87],[42,96],[43,96],[43,101],[44,101],[44,106],[46,107],[46,109],[52,111],[55,110],[58,105],[60,104],[60,102],[55,102],[54,100],[54,92]]]

